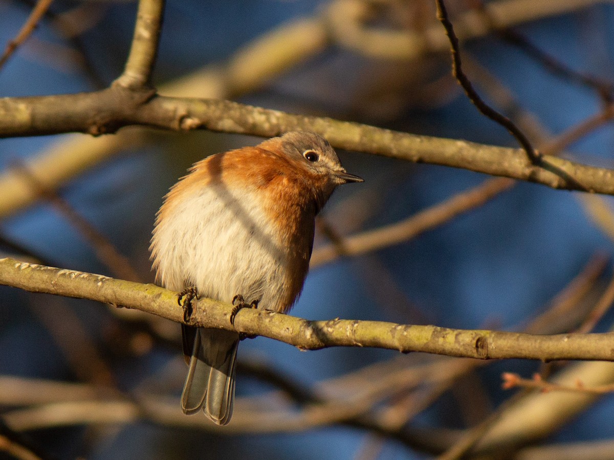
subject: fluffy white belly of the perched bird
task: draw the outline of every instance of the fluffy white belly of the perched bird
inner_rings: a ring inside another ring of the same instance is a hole
[[[260,301],[260,308],[281,307],[287,250],[251,192],[219,184],[165,206],[152,238],[164,286],[196,286],[201,295],[224,302],[241,294],[248,303]]]

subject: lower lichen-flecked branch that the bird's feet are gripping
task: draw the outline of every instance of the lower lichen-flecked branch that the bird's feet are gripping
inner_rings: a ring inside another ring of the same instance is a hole
[[[115,280],[73,270],[0,259],[0,284],[36,293],[79,297],[142,310],[182,322],[176,293],[154,285]],[[303,350],[326,347],[376,347],[423,351],[467,358],[614,360],[614,333],[531,335],[516,332],[465,331],[383,321],[308,321],[281,313],[243,309],[235,320],[232,305],[211,299],[196,303],[189,324],[238,330],[289,343]]]

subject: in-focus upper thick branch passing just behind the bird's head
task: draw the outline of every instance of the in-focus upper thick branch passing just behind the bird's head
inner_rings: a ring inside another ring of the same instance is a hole
[[[465,140],[416,136],[332,118],[291,115],[278,110],[217,99],[167,98],[122,88],[95,93],[0,99],[0,137],[60,132],[104,134],[122,126],[144,125],[176,131],[211,129],[276,136],[308,129],[333,146],[416,163],[459,167],[541,183],[553,188],[614,194],[614,171],[543,156],[527,164],[523,150]]]

